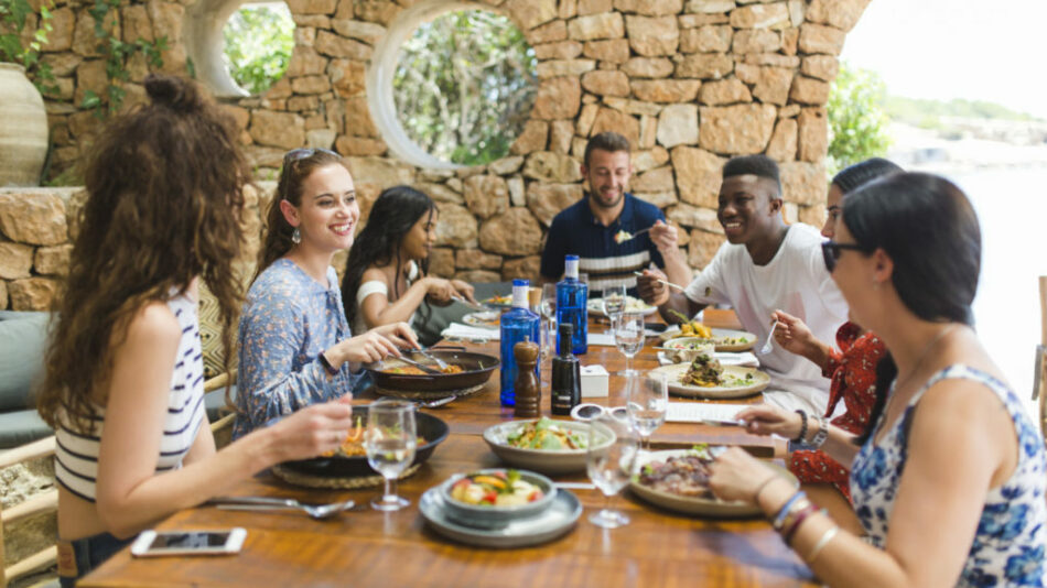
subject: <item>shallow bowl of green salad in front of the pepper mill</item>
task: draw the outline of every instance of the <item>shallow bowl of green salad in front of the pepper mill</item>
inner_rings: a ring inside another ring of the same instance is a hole
[[[589,423],[547,416],[498,423],[484,431],[490,450],[510,466],[542,473],[585,471]],[[597,447],[611,445],[614,433],[597,429]]]

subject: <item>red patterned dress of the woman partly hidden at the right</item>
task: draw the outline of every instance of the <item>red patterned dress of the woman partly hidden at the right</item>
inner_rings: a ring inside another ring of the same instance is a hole
[[[862,334],[862,328],[851,322],[836,330],[836,345],[840,350],[830,351],[829,362],[822,370],[822,375],[832,380],[825,416],[832,414],[842,399],[846,412],[833,418],[832,424],[861,434],[876,402],[876,363],[887,349],[874,333]],[[803,482],[831,483],[851,500],[848,468],[823,451],[794,451],[789,470]]]

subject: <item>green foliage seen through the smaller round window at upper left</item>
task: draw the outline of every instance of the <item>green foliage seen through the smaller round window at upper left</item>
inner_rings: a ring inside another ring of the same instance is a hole
[[[241,88],[260,94],[283,77],[294,50],[294,21],[287,7],[241,8],[223,32],[226,63]]]

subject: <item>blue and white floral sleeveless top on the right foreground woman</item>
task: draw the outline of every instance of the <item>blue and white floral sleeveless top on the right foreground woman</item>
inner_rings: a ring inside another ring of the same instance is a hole
[[[1044,439],[1006,384],[967,366],[950,366],[936,373],[913,396],[905,413],[878,444],[868,442],[851,468],[854,510],[874,545],[884,547],[891,511],[907,456],[908,423],[913,409],[930,386],[946,379],[974,380],[1000,398],[1018,437],[1018,462],[1000,488],[989,491],[971,553],[958,586],[1044,586],[1047,546],[1047,458]],[[876,428],[883,426],[881,415]],[[931,538],[928,536],[928,538]]]

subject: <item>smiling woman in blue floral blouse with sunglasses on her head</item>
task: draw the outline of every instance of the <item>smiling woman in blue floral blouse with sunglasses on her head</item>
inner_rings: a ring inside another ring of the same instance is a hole
[[[353,177],[332,151],[283,159],[239,330],[234,438],[349,393],[360,364],[418,347],[404,323],[353,336],[334,254],[353,244],[360,209]]]

